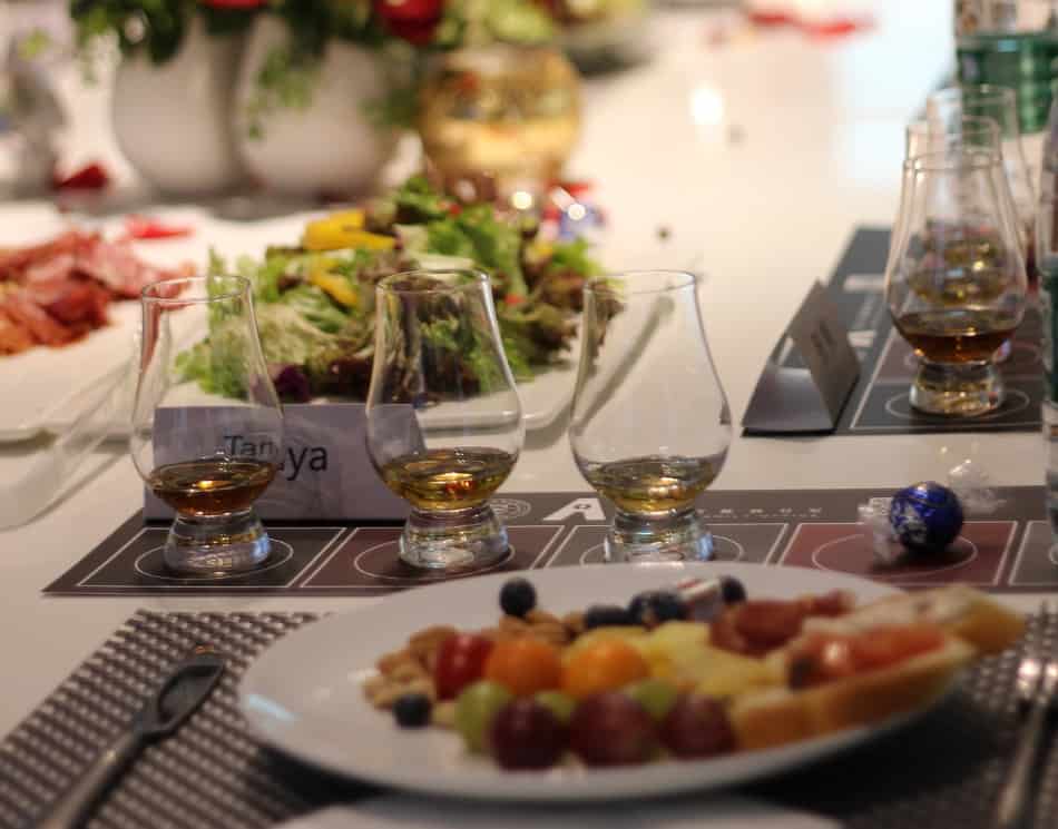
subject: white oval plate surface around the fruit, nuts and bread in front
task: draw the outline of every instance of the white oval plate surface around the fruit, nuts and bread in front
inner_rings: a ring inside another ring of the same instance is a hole
[[[595,565],[526,575],[536,585],[541,606],[567,612],[596,602],[626,602],[640,590],[689,575],[719,573],[742,579],[757,596],[845,589],[863,602],[895,592],[853,576],[760,564]],[[462,629],[494,625],[499,588],[508,578],[501,573],[413,590],[291,633],[243,678],[239,702],[252,730],[308,763],[383,786],[452,797],[557,801],[742,783],[862,743],[910,719],[904,715],[880,727],[715,760],[515,773],[470,756],[451,732],[401,730],[392,717],[364,700],[361,685],[378,658],[403,647],[413,632],[438,623]]]

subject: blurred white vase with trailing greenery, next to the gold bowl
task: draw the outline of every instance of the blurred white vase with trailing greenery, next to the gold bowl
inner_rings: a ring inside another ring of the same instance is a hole
[[[274,106],[256,119],[252,101],[265,60],[290,34],[261,16],[249,34],[236,89],[235,134],[243,164],[256,182],[298,196],[366,191],[396,145],[393,130],[373,124],[365,105],[380,100],[386,77],[376,52],[331,40],[313,72],[305,106]]]

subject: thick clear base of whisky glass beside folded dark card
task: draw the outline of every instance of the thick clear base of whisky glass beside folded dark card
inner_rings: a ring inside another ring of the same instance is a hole
[[[922,361],[911,384],[911,405],[927,414],[976,417],[1002,405],[1002,375],[991,363]]]

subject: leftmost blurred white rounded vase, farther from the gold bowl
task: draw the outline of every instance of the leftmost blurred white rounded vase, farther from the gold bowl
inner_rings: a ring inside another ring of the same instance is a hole
[[[179,50],[155,66],[145,53],[123,59],[111,117],[121,152],[166,193],[223,193],[244,178],[232,130],[235,75],[245,38],[206,33],[196,17]]]

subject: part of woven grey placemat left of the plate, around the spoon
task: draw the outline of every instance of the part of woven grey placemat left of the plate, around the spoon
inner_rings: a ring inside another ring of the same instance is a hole
[[[31,827],[199,643],[231,657],[221,685],[175,738],[147,749],[90,826],[257,829],[347,796],[331,781],[323,781],[323,791],[294,786],[298,778],[319,778],[283,768],[249,739],[236,710],[238,680],[251,661],[315,618],[136,613],[0,744],[0,827]]]

